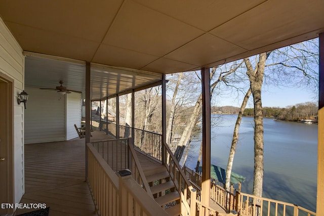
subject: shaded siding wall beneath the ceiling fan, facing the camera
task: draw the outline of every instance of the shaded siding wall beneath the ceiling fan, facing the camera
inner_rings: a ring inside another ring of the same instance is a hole
[[[65,95],[56,91],[25,88],[25,144],[65,140]]]

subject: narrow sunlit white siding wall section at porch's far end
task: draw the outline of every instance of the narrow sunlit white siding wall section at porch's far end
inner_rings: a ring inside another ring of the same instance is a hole
[[[66,95],[66,140],[78,137],[74,124],[81,124],[81,94],[72,92]]]

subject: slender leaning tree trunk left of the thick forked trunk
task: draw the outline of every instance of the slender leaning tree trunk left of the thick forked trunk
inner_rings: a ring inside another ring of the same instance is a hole
[[[238,140],[239,125],[241,124],[242,116],[243,116],[244,110],[245,110],[245,108],[247,106],[247,103],[248,103],[248,100],[250,98],[251,93],[252,93],[252,90],[250,88],[248,90],[247,94],[245,95],[243,101],[242,101],[242,104],[241,104],[241,107],[239,109],[239,113],[237,115],[237,119],[236,119],[236,122],[235,122],[232,145],[231,145],[231,149],[229,151],[229,157],[228,157],[227,169],[226,169],[226,183],[225,183],[226,190],[229,190],[229,187],[230,187],[230,180],[231,180],[231,173],[232,173],[232,168],[233,168],[234,155],[235,155],[236,144],[237,144],[237,140]]]

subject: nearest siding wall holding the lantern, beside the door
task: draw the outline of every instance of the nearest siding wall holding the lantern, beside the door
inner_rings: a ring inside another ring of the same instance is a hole
[[[24,193],[24,109],[17,104],[17,95],[24,89],[24,57],[22,49],[0,18],[0,71],[14,79],[14,175],[15,202]]]

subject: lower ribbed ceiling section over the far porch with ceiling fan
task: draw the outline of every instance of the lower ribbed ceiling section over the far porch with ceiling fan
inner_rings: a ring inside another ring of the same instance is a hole
[[[25,54],[25,85],[40,89],[55,89],[62,80],[68,90],[86,95],[86,62],[53,56]],[[160,73],[91,64],[91,100],[130,93],[150,84],[159,84]],[[51,90],[43,90],[51,91]],[[54,90],[53,90],[54,91]]]

